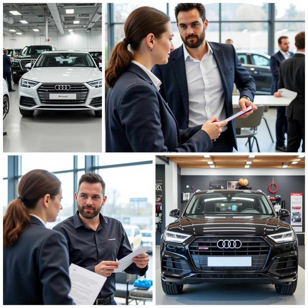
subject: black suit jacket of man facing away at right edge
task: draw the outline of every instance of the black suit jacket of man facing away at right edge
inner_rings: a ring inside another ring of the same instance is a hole
[[[295,54],[280,63],[278,88],[297,92],[295,99],[286,106],[286,116],[305,120],[305,55]]]

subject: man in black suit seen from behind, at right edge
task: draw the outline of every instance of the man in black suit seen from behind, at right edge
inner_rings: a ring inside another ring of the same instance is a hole
[[[296,98],[286,107],[288,135],[286,152],[298,152],[301,141],[305,152],[305,31],[295,36],[296,53],[279,67],[278,88],[297,92]],[[279,97],[280,93],[275,92]]]

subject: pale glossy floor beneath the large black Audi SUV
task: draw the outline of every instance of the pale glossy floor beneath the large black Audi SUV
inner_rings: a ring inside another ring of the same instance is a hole
[[[303,251],[305,246],[301,246],[300,251]],[[279,295],[274,285],[257,283],[184,285],[182,294],[167,295],[160,283],[160,246],[156,246],[156,305],[304,305],[303,294],[305,270],[299,266],[297,289],[293,295]]]

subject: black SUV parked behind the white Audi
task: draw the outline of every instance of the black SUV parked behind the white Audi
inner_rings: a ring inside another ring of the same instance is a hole
[[[25,65],[28,63],[35,63],[36,59],[43,51],[57,50],[52,45],[28,45],[26,46],[20,55],[12,59],[11,72],[14,83],[18,83],[19,79],[25,74],[27,70]]]

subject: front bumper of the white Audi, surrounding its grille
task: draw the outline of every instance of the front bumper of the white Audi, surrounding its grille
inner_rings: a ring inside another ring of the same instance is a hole
[[[101,110],[102,105],[98,101],[102,101],[102,87],[92,87],[88,83],[83,83],[88,89],[87,98],[84,103],[74,102],[72,100],[68,103],[62,103],[61,101],[57,103],[42,103],[38,88],[42,86],[43,83],[38,83],[34,87],[22,87],[21,79],[19,80],[18,86],[18,102],[19,108],[24,110]],[[55,83],[56,85],[56,83]],[[64,92],[59,91],[60,94],[65,94]],[[70,92],[73,93],[73,92]],[[25,104],[25,101],[32,103]]]

